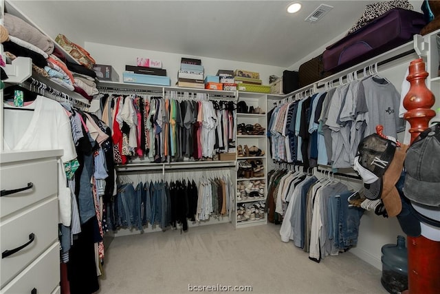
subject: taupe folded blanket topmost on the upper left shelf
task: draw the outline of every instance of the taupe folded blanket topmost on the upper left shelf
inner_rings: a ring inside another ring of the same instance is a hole
[[[54,42],[48,36],[19,17],[5,13],[3,25],[8,29],[10,36],[17,36],[17,38],[35,45],[47,54],[54,51]]]

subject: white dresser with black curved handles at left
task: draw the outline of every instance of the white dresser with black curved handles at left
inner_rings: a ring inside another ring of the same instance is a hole
[[[56,160],[62,154],[0,153],[0,294],[61,293]]]

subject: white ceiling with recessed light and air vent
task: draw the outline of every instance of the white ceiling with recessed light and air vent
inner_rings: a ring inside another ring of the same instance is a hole
[[[11,1],[52,38],[289,67],[345,34],[377,1]],[[333,6],[318,23],[305,18]],[[420,11],[422,1],[410,1]]]

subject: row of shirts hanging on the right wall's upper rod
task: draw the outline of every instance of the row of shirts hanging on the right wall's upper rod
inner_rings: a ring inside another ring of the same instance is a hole
[[[374,70],[371,74],[272,109],[267,132],[272,159],[306,167],[352,167],[358,143],[376,125],[396,138],[404,130],[397,112],[399,92]]]

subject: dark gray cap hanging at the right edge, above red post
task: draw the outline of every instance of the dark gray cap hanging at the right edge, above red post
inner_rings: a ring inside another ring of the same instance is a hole
[[[440,124],[426,129],[412,143],[405,168],[405,196],[419,204],[440,207]]]

